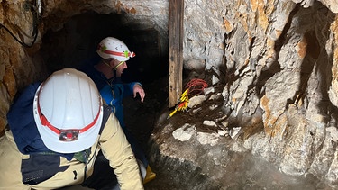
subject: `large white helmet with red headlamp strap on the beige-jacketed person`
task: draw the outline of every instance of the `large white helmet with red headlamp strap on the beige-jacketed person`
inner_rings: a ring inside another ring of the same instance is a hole
[[[48,149],[74,153],[96,142],[103,117],[102,100],[95,83],[85,73],[64,68],[39,86],[33,113]]]

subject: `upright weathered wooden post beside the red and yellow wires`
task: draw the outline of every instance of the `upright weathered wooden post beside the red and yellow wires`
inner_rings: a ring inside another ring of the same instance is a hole
[[[169,107],[182,94],[184,0],[169,0]]]

